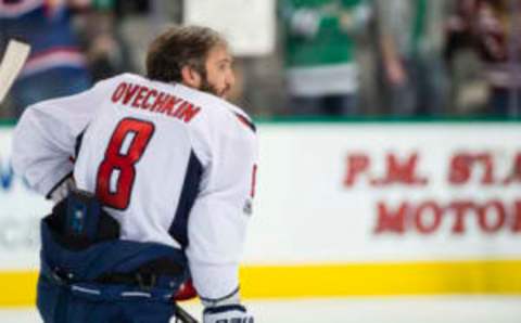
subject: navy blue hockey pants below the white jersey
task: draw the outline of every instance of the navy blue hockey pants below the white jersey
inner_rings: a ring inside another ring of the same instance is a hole
[[[46,323],[168,323],[171,296],[186,280],[179,249],[154,243],[114,240],[85,250],[63,248],[41,222],[41,270],[37,307]],[[142,284],[100,283],[104,274],[128,273],[156,259],[180,263],[182,273],[157,275]]]

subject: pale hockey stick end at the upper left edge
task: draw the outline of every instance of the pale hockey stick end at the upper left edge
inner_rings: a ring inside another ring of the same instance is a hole
[[[0,103],[13,85],[16,76],[22,70],[30,47],[17,40],[10,40],[2,63],[0,64]]]

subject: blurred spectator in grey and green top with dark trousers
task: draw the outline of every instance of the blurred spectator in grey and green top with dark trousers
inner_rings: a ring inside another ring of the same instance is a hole
[[[376,0],[379,79],[390,113],[439,115],[446,106],[443,65],[447,0]]]

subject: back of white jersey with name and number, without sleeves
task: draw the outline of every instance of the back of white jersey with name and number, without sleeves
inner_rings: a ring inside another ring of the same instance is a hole
[[[181,85],[129,74],[106,83],[106,99],[81,138],[76,184],[96,192],[119,221],[122,238],[179,247],[203,171],[206,143],[198,133],[216,113],[204,109],[215,107]]]

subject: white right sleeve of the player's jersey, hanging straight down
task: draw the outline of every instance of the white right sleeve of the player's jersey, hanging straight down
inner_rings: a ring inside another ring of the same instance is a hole
[[[187,256],[205,306],[239,300],[239,261],[254,195],[256,137],[233,114],[228,121],[230,127],[211,134],[211,159],[188,221]]]

